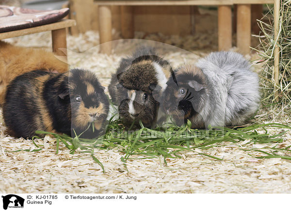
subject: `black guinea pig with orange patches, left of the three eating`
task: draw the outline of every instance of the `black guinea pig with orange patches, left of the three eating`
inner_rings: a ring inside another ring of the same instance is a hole
[[[10,135],[32,138],[36,130],[94,138],[108,115],[109,102],[94,73],[72,69],[63,74],[36,70],[8,86],[3,119]],[[39,135],[38,135],[39,136]]]

